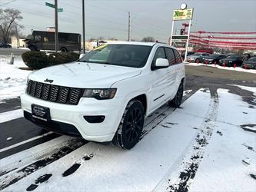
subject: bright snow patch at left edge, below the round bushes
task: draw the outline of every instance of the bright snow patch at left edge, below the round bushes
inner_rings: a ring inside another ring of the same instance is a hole
[[[26,78],[31,71],[22,70],[27,66],[20,56],[15,56],[14,65],[8,65],[10,56],[0,55],[0,103],[4,99],[16,98],[25,89]]]

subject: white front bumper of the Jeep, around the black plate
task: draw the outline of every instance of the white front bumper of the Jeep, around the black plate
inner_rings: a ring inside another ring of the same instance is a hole
[[[35,124],[58,133],[76,135],[85,138],[85,140],[97,142],[112,140],[125,110],[121,98],[108,100],[81,98],[77,105],[70,105],[44,101],[28,94],[22,94],[21,101],[25,118]],[[32,118],[32,104],[50,108],[51,120],[43,122]],[[105,116],[103,122],[88,123],[84,118],[84,116],[98,115]]]

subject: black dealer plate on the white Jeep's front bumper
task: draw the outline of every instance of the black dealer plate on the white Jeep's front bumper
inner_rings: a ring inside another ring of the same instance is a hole
[[[38,104],[32,104],[32,117],[36,119],[40,119],[42,121],[50,121],[50,108],[45,108]]]

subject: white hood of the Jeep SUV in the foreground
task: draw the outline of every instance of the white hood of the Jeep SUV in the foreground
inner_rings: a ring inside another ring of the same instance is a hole
[[[74,62],[35,71],[28,76],[33,81],[73,88],[110,88],[116,81],[141,73],[139,68]]]

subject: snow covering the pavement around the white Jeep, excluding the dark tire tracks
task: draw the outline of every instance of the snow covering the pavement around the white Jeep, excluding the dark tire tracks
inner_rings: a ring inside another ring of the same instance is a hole
[[[255,132],[243,129],[245,124],[256,126],[255,109],[228,90],[219,89],[218,95],[213,100],[209,91],[196,92],[130,151],[91,142],[4,191],[166,191],[187,159],[199,162],[194,177],[188,177],[189,191],[256,191]],[[208,119],[211,114],[215,118]],[[187,158],[208,125],[212,130],[202,157]],[[15,154],[15,160],[25,158],[28,151]],[[0,162],[8,167],[10,159]],[[9,175],[12,172],[0,180],[8,182]],[[40,183],[42,176],[48,180]]]

